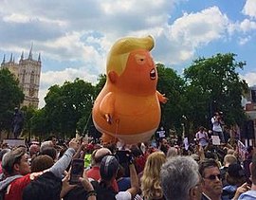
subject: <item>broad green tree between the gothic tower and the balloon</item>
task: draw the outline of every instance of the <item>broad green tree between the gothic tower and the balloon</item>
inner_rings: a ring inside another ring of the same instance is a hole
[[[51,132],[74,136],[80,118],[91,115],[94,94],[94,86],[80,79],[51,86],[45,98]]]

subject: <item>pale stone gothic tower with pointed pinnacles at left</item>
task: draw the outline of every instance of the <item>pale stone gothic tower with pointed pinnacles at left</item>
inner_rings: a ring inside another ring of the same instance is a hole
[[[31,105],[38,108],[38,92],[41,75],[41,55],[39,53],[38,60],[32,58],[32,46],[30,48],[27,59],[24,59],[24,52],[22,52],[20,61],[15,63],[14,57],[10,55],[9,62],[6,62],[4,56],[1,67],[6,67],[19,80],[20,86],[25,94],[25,99],[21,106]]]

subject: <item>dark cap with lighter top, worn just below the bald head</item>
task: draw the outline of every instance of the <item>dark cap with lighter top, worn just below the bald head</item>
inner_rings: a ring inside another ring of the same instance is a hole
[[[119,170],[119,161],[113,155],[105,155],[101,160],[101,179],[110,180]]]

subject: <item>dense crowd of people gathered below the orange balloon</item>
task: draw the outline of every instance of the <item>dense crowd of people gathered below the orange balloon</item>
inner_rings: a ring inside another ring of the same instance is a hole
[[[0,199],[256,199],[253,147],[241,157],[232,138],[213,145],[203,127],[194,137],[188,149],[166,136],[156,146],[82,137],[61,143],[56,136],[28,146],[1,144]],[[74,184],[75,159],[82,160],[82,174]]]

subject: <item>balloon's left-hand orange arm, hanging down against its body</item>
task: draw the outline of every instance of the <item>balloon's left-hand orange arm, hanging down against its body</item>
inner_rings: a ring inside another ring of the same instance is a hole
[[[108,123],[112,123],[112,118],[115,111],[115,94],[109,92],[102,100],[100,104],[101,116],[106,119]]]

